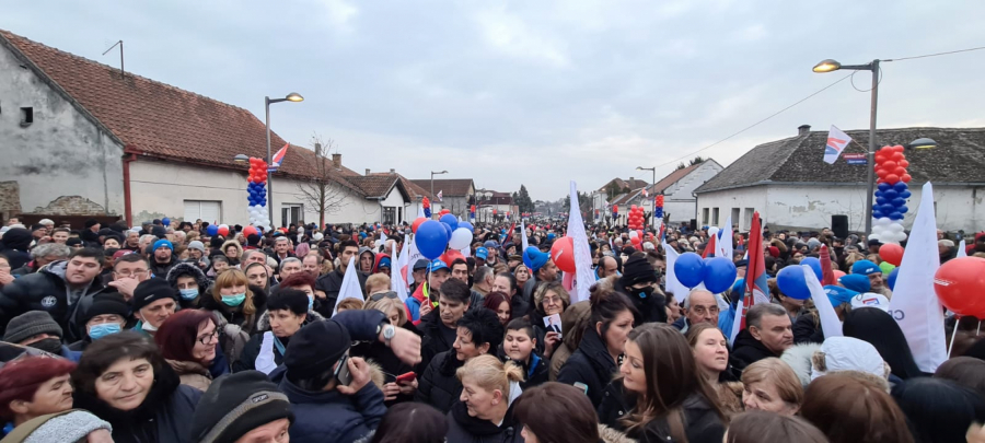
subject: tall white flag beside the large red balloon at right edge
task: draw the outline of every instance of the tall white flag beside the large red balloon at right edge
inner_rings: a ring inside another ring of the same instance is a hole
[[[890,312],[906,336],[913,360],[927,373],[937,371],[937,366],[948,359],[943,310],[934,291],[934,275],[938,268],[934,186],[927,182],[920,191],[920,207],[903,250],[896,290],[890,300]]]

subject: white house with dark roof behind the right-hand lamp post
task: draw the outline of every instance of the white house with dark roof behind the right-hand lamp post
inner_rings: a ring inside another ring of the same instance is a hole
[[[846,131],[849,143],[834,164],[823,162],[827,131],[800,127],[797,137],[760,144],[700,186],[698,225],[721,225],[726,218],[748,230],[753,211],[773,230],[830,228],[832,215],[847,215],[851,232],[865,230],[867,165],[844,155],[866,152],[868,130]],[[907,150],[913,196],[903,225],[909,229],[920,186],[934,184],[937,226],[946,231],[985,229],[985,128],[880,129],[877,145],[908,144],[928,137],[936,149]]]

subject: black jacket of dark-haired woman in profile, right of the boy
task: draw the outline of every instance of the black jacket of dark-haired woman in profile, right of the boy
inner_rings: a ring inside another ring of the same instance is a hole
[[[616,362],[612,360],[599,333],[587,328],[578,349],[557,373],[557,382],[566,385],[584,384],[588,386],[586,395],[592,400],[592,406],[598,408],[602,403],[602,392],[616,371]]]

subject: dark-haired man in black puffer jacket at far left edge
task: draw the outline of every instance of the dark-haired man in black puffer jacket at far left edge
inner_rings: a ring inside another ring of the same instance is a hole
[[[61,326],[66,342],[85,337],[82,316],[92,298],[105,290],[99,276],[103,269],[103,252],[77,249],[65,261],[24,276],[3,287],[0,293],[0,330],[11,318],[28,311],[45,311]]]

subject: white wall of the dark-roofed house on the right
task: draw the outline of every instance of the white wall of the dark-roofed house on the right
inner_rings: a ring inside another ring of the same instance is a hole
[[[903,225],[908,230],[920,203],[920,187],[911,188],[909,211]],[[945,231],[977,232],[985,229],[985,187],[935,186],[937,226]],[[732,208],[740,208],[740,230],[745,225],[745,209],[754,208],[766,223],[776,229],[820,229],[831,226],[831,215],[848,215],[848,229],[865,230],[866,188],[862,186],[789,186],[768,185],[728,189],[698,195],[698,208],[719,208],[719,224]],[[702,224],[700,212],[698,224]]]

